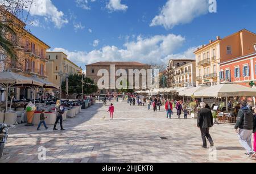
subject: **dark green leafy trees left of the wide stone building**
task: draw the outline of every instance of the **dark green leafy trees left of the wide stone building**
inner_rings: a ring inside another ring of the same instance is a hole
[[[98,91],[98,87],[93,84],[93,81],[83,75],[74,74],[68,76],[68,93],[69,94],[81,94],[82,93],[82,78],[84,79],[83,92],[84,94],[93,94]],[[66,82],[62,82],[61,89],[66,91]]]

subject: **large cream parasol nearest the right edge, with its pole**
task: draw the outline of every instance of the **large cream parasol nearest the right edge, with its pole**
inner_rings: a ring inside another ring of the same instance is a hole
[[[197,91],[195,97],[226,97],[226,107],[228,106],[228,97],[252,97],[256,96],[256,89],[234,84],[232,82],[222,82],[216,86],[205,88],[204,90]],[[228,107],[227,107],[228,110]]]

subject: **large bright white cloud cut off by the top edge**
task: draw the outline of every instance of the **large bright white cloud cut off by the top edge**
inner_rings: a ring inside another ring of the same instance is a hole
[[[208,8],[208,0],[168,0],[150,26],[171,29],[179,24],[191,23],[198,16],[207,14]]]

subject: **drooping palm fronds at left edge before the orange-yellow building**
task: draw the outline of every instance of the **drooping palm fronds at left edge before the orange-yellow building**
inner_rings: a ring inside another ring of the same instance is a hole
[[[10,56],[11,60],[16,60],[16,52],[14,50],[14,43],[6,38],[6,33],[10,33],[12,37],[16,37],[16,32],[7,24],[0,22],[0,47]]]

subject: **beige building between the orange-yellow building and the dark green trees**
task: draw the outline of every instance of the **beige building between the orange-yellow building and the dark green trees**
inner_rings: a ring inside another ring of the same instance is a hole
[[[48,81],[60,86],[70,74],[82,74],[81,67],[68,59],[63,52],[47,52],[46,71]]]

